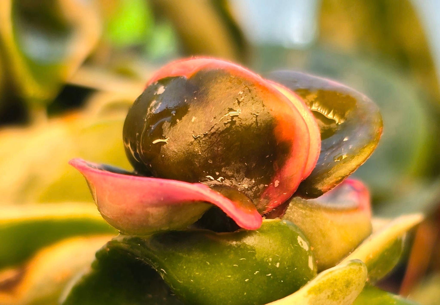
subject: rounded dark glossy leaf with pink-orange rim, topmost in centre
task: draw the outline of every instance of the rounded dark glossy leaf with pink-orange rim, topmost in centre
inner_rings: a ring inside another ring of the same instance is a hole
[[[245,68],[183,59],[165,65],[148,85],[123,131],[138,172],[232,187],[268,212],[297,189],[309,155],[316,161],[319,147],[311,154],[310,138],[319,133],[311,134],[297,108],[301,100],[293,103]]]

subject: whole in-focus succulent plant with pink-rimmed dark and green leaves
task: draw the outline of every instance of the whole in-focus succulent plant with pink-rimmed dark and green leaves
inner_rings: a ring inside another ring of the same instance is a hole
[[[165,65],[125,119],[134,171],[70,161],[120,234],[62,304],[411,304],[374,284],[422,215],[372,219],[348,178],[381,133],[374,102],[329,79]]]

